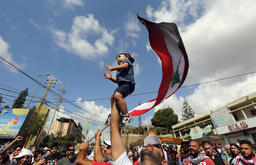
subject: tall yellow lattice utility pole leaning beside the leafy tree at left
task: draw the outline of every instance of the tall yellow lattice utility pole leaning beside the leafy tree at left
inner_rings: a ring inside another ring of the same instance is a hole
[[[53,83],[53,81],[57,81],[57,80],[46,80],[46,81],[50,81],[50,83],[45,83],[45,84],[48,84],[48,86],[46,87],[47,89],[46,89],[45,95],[43,96],[43,99],[42,99],[42,101],[41,101],[41,103],[40,103],[40,106],[39,106],[39,108],[37,109],[37,112],[36,112],[37,115],[40,115],[40,114],[39,114],[40,109],[42,108],[43,103],[45,102],[45,98],[46,98],[46,95],[47,95],[49,89],[50,89],[50,88],[54,88],[54,86],[51,86],[51,85],[52,85],[52,84],[56,84],[56,83]],[[50,113],[50,111],[48,111],[45,115],[48,116],[49,113]],[[37,144],[38,144],[38,142],[39,142],[39,140],[40,140],[40,138],[41,138],[41,136],[42,136],[42,134],[43,134],[43,128],[45,128],[45,123],[46,123],[46,121],[47,121],[47,118],[45,118],[41,130],[39,130],[39,131],[40,131],[40,132],[39,132],[39,135],[37,135],[36,141],[35,141],[35,143],[34,143],[35,146],[37,146]]]

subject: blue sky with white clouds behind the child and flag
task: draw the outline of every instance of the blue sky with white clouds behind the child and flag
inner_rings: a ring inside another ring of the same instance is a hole
[[[128,109],[157,97],[161,63],[149,46],[147,29],[138,21],[137,13],[151,22],[177,24],[189,59],[183,84],[187,86],[256,71],[255,6],[255,0],[0,0],[0,56],[37,81],[42,77],[38,74],[49,73],[42,83],[57,79],[52,88],[56,93],[65,85],[64,98],[72,103],[61,103],[60,111],[73,116],[84,128],[90,121],[91,138],[97,126],[104,127],[111,112],[108,98],[116,84],[104,78],[104,65],[117,65],[115,56],[120,50],[127,50],[135,59],[136,88],[132,95],[136,96],[126,98]],[[12,105],[20,90],[29,88],[32,95],[37,84],[0,62],[2,106]],[[181,117],[184,99],[201,113],[255,91],[255,73],[180,88],[142,115],[142,124],[150,123],[154,112],[168,106]],[[44,92],[39,87],[33,100],[39,102]],[[154,93],[143,94],[148,92]],[[49,106],[56,104],[54,98],[56,95],[48,93]],[[58,117],[69,118],[61,112]],[[135,116],[131,125],[138,124]],[[103,136],[109,139],[109,129]]]

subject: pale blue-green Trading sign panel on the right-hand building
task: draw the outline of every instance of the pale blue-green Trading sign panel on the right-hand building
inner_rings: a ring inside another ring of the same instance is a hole
[[[227,109],[227,106],[211,113],[211,119],[216,128],[234,123],[232,117],[230,116],[231,115],[229,114],[229,110]]]

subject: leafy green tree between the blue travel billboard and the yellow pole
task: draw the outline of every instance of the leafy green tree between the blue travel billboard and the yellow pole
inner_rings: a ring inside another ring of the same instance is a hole
[[[43,119],[45,118],[45,115],[38,115],[37,109],[35,106],[32,108],[33,115],[29,119],[29,122],[27,123],[27,127],[24,129],[23,132],[23,142],[26,142],[29,140],[29,137],[33,138],[36,136],[39,131],[42,129],[43,126]]]

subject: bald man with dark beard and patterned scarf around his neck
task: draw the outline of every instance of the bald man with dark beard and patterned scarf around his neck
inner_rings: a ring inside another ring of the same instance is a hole
[[[186,162],[187,165],[215,165],[206,155],[200,152],[200,145],[197,141],[189,143],[190,156]]]

